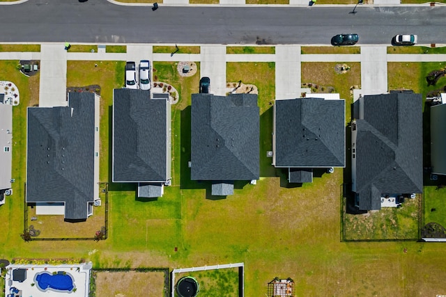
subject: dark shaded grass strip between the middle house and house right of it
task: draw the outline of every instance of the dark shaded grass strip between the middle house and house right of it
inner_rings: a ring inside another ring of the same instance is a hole
[[[272,107],[260,115],[260,176],[276,177],[272,158],[267,152],[272,150]]]

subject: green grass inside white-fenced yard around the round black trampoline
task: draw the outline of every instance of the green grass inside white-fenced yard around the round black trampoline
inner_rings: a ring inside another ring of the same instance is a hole
[[[192,276],[199,283],[199,296],[238,297],[238,268],[213,269],[175,273],[175,286],[184,276]],[[175,292],[175,296],[179,296]]]

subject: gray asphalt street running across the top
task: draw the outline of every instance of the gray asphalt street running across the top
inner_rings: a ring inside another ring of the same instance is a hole
[[[0,42],[330,44],[358,33],[358,45],[390,44],[401,33],[446,43],[446,6],[118,6],[106,0],[32,0],[0,6]]]

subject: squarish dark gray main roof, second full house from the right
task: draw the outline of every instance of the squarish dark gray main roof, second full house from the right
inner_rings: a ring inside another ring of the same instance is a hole
[[[276,100],[276,167],[344,167],[345,159],[344,100]]]

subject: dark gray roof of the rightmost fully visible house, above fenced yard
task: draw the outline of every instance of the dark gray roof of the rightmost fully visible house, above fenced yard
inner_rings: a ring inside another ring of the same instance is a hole
[[[359,208],[380,209],[383,193],[422,193],[422,96],[364,97],[356,120],[356,194]]]

